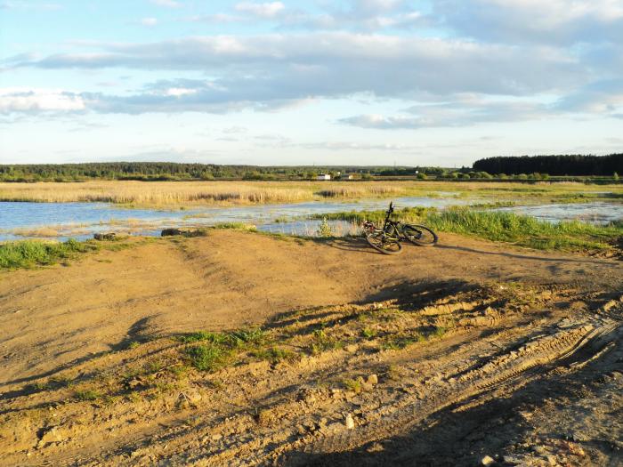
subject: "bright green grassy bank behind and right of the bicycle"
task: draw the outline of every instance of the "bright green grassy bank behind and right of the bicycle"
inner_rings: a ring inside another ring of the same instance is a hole
[[[380,224],[384,219],[384,212],[333,213],[325,217],[329,220],[358,223],[370,220]],[[434,208],[405,208],[397,211],[395,218],[404,222],[424,223],[441,232],[539,250],[608,253],[614,251],[620,238],[623,238],[621,222],[605,226],[580,221],[551,223],[515,213],[476,211],[461,207],[445,211]]]

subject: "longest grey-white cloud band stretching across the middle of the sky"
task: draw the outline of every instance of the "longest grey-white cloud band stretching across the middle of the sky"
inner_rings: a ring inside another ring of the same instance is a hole
[[[231,92],[243,84],[263,87],[271,99],[365,92],[523,94],[582,85],[588,74],[569,52],[548,47],[347,32],[109,44],[102,51],[59,53],[20,65],[201,70],[215,76],[214,85]]]

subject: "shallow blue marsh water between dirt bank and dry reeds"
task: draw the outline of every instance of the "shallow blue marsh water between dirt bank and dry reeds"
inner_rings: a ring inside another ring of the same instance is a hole
[[[481,200],[447,197],[395,198],[398,208],[407,206],[446,207]],[[313,235],[320,221],[305,216],[343,211],[384,209],[387,199],[348,202],[315,201],[286,205],[198,207],[187,210],[126,209],[106,203],[18,203],[0,202],[0,241],[18,238],[91,238],[95,232],[117,231],[136,235],[159,235],[166,227],[200,227],[221,222],[245,222],[258,229],[285,234]],[[536,205],[498,208],[537,217],[545,221],[579,219],[595,223],[623,220],[623,205],[587,203],[578,205]],[[278,221],[279,220],[279,221]],[[354,233],[349,222],[332,222],[338,234]]]

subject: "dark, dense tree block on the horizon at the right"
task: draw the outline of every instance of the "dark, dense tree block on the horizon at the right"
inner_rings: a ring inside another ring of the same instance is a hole
[[[547,173],[554,176],[612,176],[614,173],[623,174],[623,154],[487,157],[474,162],[473,169],[495,175]]]

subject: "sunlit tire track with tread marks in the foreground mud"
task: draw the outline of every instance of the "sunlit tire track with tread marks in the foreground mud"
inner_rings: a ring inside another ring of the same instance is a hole
[[[554,362],[555,366],[569,366],[581,359],[590,360],[603,353],[603,350],[608,350],[609,343],[621,330],[618,322],[599,315],[584,323],[573,326],[565,323],[563,326],[555,330],[554,334],[538,337],[520,349],[494,358],[467,374],[441,382],[431,388],[425,398],[409,395],[392,407],[378,409],[371,416],[376,420],[359,429],[341,429],[324,433],[320,438],[302,439],[289,447],[291,451],[298,449],[298,453],[282,452],[279,463],[297,465],[304,463],[307,455],[341,452],[387,438],[444,408],[500,386],[510,385],[519,376],[538,366]]]

